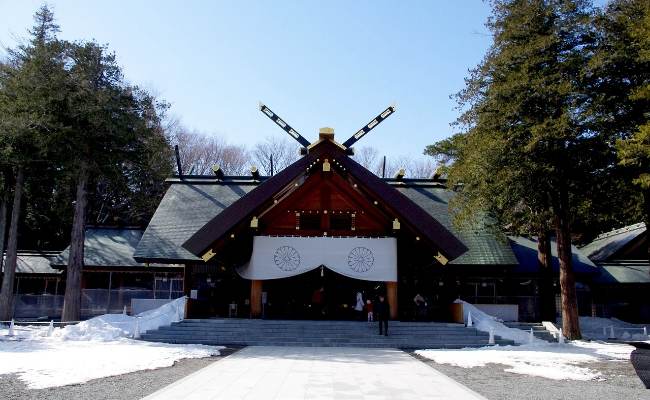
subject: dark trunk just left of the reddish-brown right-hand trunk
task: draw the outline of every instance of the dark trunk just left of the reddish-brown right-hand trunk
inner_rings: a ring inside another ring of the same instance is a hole
[[[555,290],[553,289],[552,260],[551,237],[545,227],[540,228],[537,237],[540,314],[542,321],[555,322]]]

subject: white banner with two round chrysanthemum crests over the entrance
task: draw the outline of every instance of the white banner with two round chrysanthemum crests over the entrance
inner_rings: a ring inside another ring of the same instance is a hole
[[[245,279],[279,279],[324,265],[350,278],[397,282],[395,238],[253,238],[250,261],[237,269]]]

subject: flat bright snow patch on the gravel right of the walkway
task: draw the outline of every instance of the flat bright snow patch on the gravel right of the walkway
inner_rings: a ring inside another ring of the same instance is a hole
[[[493,346],[461,350],[418,350],[416,354],[440,364],[463,368],[488,364],[507,366],[506,372],[549,379],[602,379],[599,371],[585,366],[597,361],[627,360],[634,347],[622,344],[574,341],[560,345]]]

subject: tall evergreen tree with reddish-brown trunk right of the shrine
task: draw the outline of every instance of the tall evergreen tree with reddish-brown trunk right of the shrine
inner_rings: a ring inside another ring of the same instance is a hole
[[[537,233],[548,264],[549,230],[560,260],[562,325],[580,338],[571,265],[571,210],[598,160],[597,135],[585,130],[583,66],[591,10],[586,1],[496,0],[493,44],[457,98],[464,128],[450,182],[456,220],[494,217],[497,228]],[[548,273],[548,272],[547,272]]]

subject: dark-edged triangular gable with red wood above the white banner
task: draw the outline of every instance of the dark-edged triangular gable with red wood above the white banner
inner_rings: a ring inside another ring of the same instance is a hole
[[[303,217],[303,211],[304,215],[311,211],[312,217]],[[346,224],[343,217],[337,221],[332,216],[348,211],[354,211],[355,229],[330,232],[332,225]],[[443,264],[467,250],[430,214],[354,162],[341,145],[321,139],[307,155],[216,215],[183,247],[208,261],[225,248],[243,256],[254,235],[402,236],[407,232],[429,246]]]

